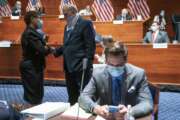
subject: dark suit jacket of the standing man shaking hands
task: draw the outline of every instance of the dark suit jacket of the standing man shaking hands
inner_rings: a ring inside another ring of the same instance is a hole
[[[88,59],[88,68],[92,68],[95,53],[95,31],[92,22],[81,17],[69,35],[64,29],[64,45],[56,49],[57,56],[63,54],[66,72],[82,70],[83,58]]]

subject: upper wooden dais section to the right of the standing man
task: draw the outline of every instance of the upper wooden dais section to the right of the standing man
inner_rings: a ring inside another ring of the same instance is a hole
[[[126,21],[123,24],[112,22],[94,22],[97,33],[112,35],[125,43],[142,43],[147,31],[148,21]]]

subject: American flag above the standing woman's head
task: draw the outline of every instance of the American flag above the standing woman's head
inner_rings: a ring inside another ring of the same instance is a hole
[[[41,0],[29,0],[28,5],[26,7],[26,11],[30,11],[35,6],[42,6]]]

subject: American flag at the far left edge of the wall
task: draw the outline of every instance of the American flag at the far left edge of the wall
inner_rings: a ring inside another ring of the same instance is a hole
[[[0,0],[0,16],[11,16],[11,8],[7,0]]]

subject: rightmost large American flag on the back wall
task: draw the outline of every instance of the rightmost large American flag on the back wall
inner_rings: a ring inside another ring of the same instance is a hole
[[[127,6],[133,18],[137,18],[137,15],[141,15],[143,20],[150,17],[150,9],[147,0],[129,0]]]

